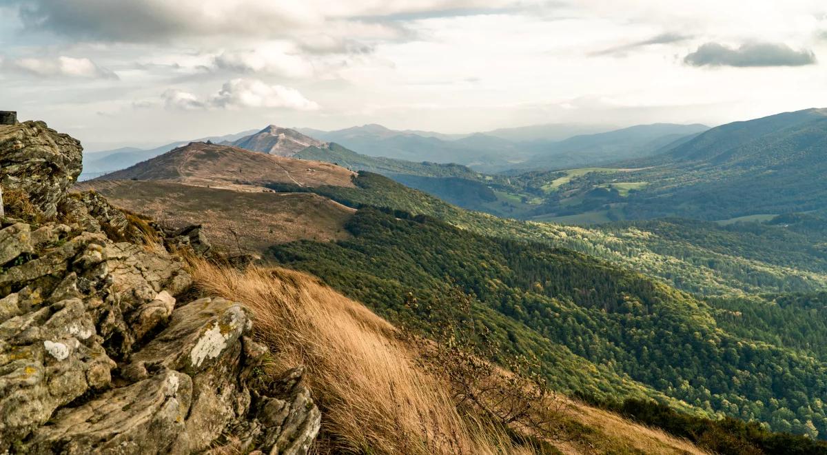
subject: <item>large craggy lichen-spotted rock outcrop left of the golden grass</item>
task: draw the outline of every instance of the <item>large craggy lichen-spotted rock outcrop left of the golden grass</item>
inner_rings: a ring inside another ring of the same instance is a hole
[[[37,128],[46,138],[31,143],[56,135]],[[74,173],[31,160],[3,164],[4,181]],[[184,261],[151,242],[151,223],[48,182],[15,188],[50,193],[28,195],[54,221],[0,218],[0,453],[306,453],[320,414],[302,369],[262,377],[268,352],[243,305],[190,296]]]

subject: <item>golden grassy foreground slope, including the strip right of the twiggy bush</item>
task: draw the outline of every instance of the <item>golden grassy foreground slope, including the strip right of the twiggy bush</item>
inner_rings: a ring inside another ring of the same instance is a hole
[[[200,264],[194,276],[204,290],[240,296],[256,314],[267,314],[260,333],[278,352],[276,368],[306,362],[309,386],[323,397],[319,406],[327,432],[320,446],[331,452],[705,453],[562,397],[543,403],[565,403],[554,405],[557,440],[538,447],[509,438],[480,419],[480,410],[463,409],[451,394],[450,378],[425,367],[421,347],[400,337],[399,328],[313,276],[279,267],[238,272],[208,264]],[[301,344],[302,338],[313,343]]]

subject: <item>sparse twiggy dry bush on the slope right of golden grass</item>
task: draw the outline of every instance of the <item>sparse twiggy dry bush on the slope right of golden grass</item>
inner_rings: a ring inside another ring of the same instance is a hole
[[[400,331],[400,338],[417,347],[424,369],[447,382],[461,410],[481,415],[518,435],[557,443],[570,438],[566,427],[570,402],[549,388],[538,373],[536,360],[504,352],[490,329],[474,318],[471,301],[471,296],[452,287],[436,303],[419,308],[417,299],[409,294],[405,305],[432,328],[432,339],[408,328]],[[498,359],[506,369],[495,366],[491,359]]]

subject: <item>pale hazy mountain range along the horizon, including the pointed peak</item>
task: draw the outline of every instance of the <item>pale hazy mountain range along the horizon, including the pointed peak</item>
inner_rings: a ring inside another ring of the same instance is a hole
[[[332,132],[270,125],[260,131],[213,136],[194,141],[240,146],[252,151],[293,156],[308,146],[335,142],[362,155],[442,164],[467,165],[477,171],[538,170],[591,165],[648,156],[658,146],[705,129],[701,125],[639,125],[620,130],[608,126],[550,124],[465,135],[414,130],[397,131],[371,124]],[[84,162],[84,179],[120,170],[190,141],[154,149],[99,151]]]

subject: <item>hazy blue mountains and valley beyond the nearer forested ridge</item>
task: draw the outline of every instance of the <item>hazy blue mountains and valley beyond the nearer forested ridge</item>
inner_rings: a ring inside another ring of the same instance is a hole
[[[379,125],[313,137],[271,125],[223,143],[377,172],[452,204],[511,218],[726,220],[825,210],[815,178],[825,171],[824,119],[825,110],[808,109],[712,129],[656,123],[562,141],[421,136],[428,133]],[[112,160],[123,163],[123,156]]]

